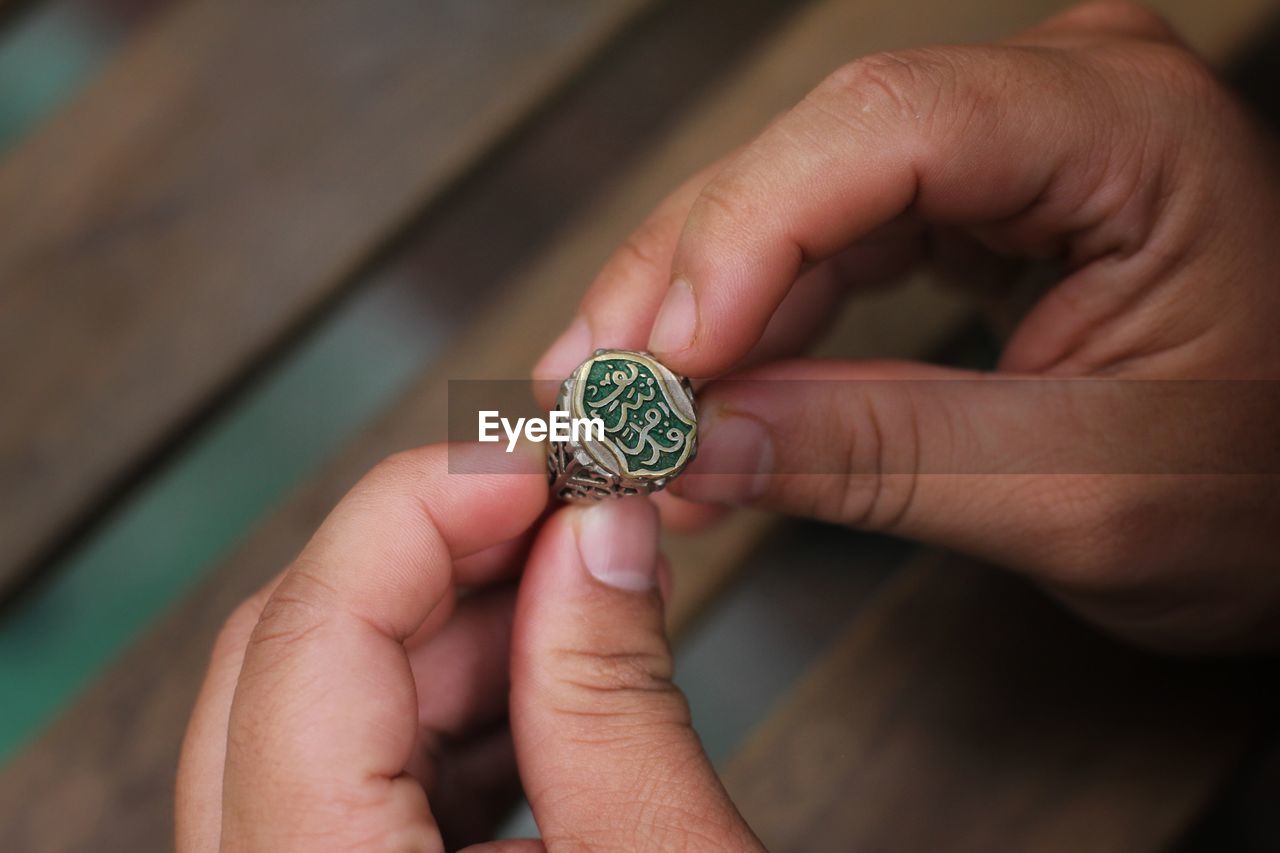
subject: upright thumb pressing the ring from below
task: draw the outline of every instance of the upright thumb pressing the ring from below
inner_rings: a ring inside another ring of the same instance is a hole
[[[512,638],[511,721],[548,849],[759,849],[672,684],[644,498],[552,516]]]

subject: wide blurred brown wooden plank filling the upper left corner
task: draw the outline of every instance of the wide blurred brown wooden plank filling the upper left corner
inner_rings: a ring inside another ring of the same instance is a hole
[[[195,0],[0,163],[0,592],[650,0]]]

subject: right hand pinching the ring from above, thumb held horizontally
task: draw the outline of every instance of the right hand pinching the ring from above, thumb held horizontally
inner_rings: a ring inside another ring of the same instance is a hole
[[[1143,643],[1274,644],[1274,155],[1125,3],[860,59],[663,202],[535,375],[598,346],[695,378],[754,365],[703,391],[676,494],[957,548]],[[1066,270],[995,374],[777,361],[846,292],[957,257]]]

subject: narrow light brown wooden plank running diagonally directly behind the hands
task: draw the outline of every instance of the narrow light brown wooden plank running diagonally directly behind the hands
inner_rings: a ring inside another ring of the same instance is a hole
[[[627,169],[604,201],[581,215],[536,263],[529,263],[508,296],[399,405],[273,514],[209,583],[9,766],[0,776],[0,825],[6,827],[6,839],[19,849],[111,850],[138,849],[164,838],[178,740],[221,619],[296,553],[369,466],[397,448],[444,434],[445,380],[526,373],[559,330],[582,283],[667,188],[748,138],[849,56],[922,40],[989,37],[1039,12],[1036,4],[1011,0],[988,5],[986,17],[982,8],[940,10],[933,28],[922,23],[931,17],[911,4],[831,0],[801,12],[758,56],[700,99],[690,118],[650,158]],[[1231,13],[1221,6],[1216,12]],[[1243,23],[1243,17],[1235,18],[1235,24]],[[844,328],[859,332],[855,339],[863,346],[873,336],[897,330],[879,353],[915,355],[961,316],[936,291],[908,288],[856,304]],[[739,555],[768,521],[741,516],[733,524],[705,539],[671,543],[680,575],[681,598],[673,607],[677,628],[726,583]],[[74,820],[68,820],[63,803],[78,804]]]

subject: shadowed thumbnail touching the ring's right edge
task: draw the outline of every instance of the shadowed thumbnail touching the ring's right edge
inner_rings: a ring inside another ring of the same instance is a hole
[[[692,501],[740,503],[758,498],[773,474],[773,438],[755,418],[708,411],[698,425],[698,459],[672,483]]]

